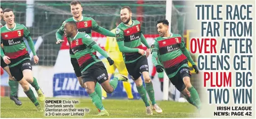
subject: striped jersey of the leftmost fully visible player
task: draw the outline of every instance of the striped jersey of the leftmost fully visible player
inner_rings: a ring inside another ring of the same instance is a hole
[[[1,42],[4,45],[4,55],[10,57],[9,67],[18,65],[20,62],[30,59],[27,46],[23,37],[30,37],[30,32],[23,24],[15,23],[14,28],[9,29],[7,25],[1,28]]]

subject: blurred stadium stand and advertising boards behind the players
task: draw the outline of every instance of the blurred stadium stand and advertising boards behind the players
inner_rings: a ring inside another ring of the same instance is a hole
[[[27,5],[26,1],[1,1],[4,8],[13,8],[15,22],[27,26],[31,32],[34,43],[39,46],[37,55],[39,63],[33,66],[34,77],[38,79],[47,97],[53,96],[86,96],[84,89],[79,87],[75,73],[70,63],[67,42],[62,45],[56,45],[55,32],[65,19],[71,17],[70,1],[34,1],[34,5]],[[90,16],[103,28],[111,30],[115,27],[115,21],[120,19],[119,12],[122,6],[128,5],[132,8],[133,19],[142,23],[142,31],[151,45],[153,38],[158,37],[156,30],[156,21],[166,18],[166,1],[81,1],[83,15]],[[27,12],[27,13],[26,13]],[[28,13],[34,13],[34,18],[27,18]],[[27,18],[27,19],[26,19]],[[186,12],[184,1],[173,1],[171,32],[179,33],[189,46],[189,38],[193,34],[193,29],[188,28],[189,14]],[[27,24],[28,22],[32,24]],[[1,21],[2,24],[5,24]],[[98,33],[92,33],[93,39],[104,48],[105,36]],[[101,56],[100,56],[101,57]],[[192,56],[196,61],[195,56]],[[148,58],[150,73],[152,72],[151,57]],[[34,64],[34,63],[31,63]],[[2,70],[1,70],[2,72]],[[193,75],[191,82],[195,88],[198,87],[197,78]],[[160,82],[157,77],[154,78],[154,90],[156,99],[162,98]],[[131,86],[135,86],[130,80]],[[136,88],[133,89],[135,98],[139,98]],[[1,73],[1,96],[9,96],[10,88],[8,86],[7,73]],[[200,93],[200,91],[199,91]],[[175,92],[169,92],[169,97],[175,95]],[[24,92],[21,87],[19,96],[23,97]],[[125,98],[126,93],[122,83],[109,98]]]

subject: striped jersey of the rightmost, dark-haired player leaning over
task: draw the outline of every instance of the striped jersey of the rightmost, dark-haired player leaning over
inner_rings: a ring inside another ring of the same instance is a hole
[[[185,42],[178,34],[172,34],[171,37],[155,38],[155,42],[151,46],[151,52],[158,53],[158,60],[164,67],[168,78],[174,77],[181,67],[188,67],[187,57],[181,48],[186,48]]]

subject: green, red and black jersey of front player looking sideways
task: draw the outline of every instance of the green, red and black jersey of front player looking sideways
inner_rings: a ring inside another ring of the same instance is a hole
[[[84,72],[89,66],[101,62],[96,55],[96,50],[92,48],[95,45],[95,41],[83,32],[77,32],[74,38],[68,37],[70,42],[71,51],[75,54],[78,64],[81,68],[81,72]]]

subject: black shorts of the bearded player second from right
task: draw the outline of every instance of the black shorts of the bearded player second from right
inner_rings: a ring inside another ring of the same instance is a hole
[[[142,56],[133,63],[126,63],[126,69],[130,74],[131,79],[137,80],[141,77],[142,72],[148,72],[148,64],[146,56]]]

